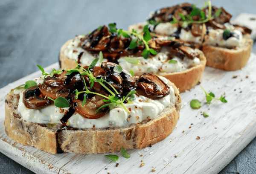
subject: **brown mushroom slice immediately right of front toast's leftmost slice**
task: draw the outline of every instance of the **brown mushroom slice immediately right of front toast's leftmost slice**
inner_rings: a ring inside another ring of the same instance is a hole
[[[46,85],[39,85],[39,90],[43,97],[50,97],[51,99],[57,99],[57,97],[64,97],[70,93],[69,89],[60,87],[47,87]]]

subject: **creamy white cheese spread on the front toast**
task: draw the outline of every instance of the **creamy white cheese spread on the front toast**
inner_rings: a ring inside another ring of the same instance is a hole
[[[167,79],[160,77],[165,83]],[[40,78],[42,79],[42,78]],[[39,83],[42,81],[37,80]],[[130,124],[137,124],[145,119],[155,119],[167,107],[175,105],[176,96],[173,87],[170,87],[170,94],[162,99],[148,99],[145,96],[135,96],[132,104],[125,104],[130,110],[127,113],[122,107],[111,108],[110,112],[99,119],[86,119],[78,113],[74,113],[70,119],[70,126],[73,128],[108,128],[124,127]],[[60,123],[68,108],[58,108],[53,104],[40,109],[28,109],[23,104],[23,91],[20,92],[20,100],[17,107],[21,117],[28,122],[41,124]]]

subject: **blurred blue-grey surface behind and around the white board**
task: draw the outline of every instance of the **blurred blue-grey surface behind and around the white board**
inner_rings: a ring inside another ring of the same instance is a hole
[[[198,3],[199,0],[188,0]],[[61,45],[108,23],[117,28],[142,22],[148,13],[183,1],[174,0],[0,0],[0,88],[58,61]],[[216,0],[233,18],[256,13],[256,0]],[[253,45],[256,53],[256,44]],[[0,174],[34,174],[0,153]],[[219,174],[256,174],[256,138]]]

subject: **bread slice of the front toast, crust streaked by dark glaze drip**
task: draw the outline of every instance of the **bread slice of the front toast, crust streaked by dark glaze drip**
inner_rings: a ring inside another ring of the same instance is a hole
[[[49,153],[96,154],[120,151],[121,148],[145,148],[165,139],[180,117],[181,98],[174,88],[175,106],[167,107],[156,119],[148,119],[140,124],[116,128],[77,129],[61,124],[38,124],[22,119],[17,111],[19,95],[6,96],[4,127],[6,134],[23,145],[35,146]]]

